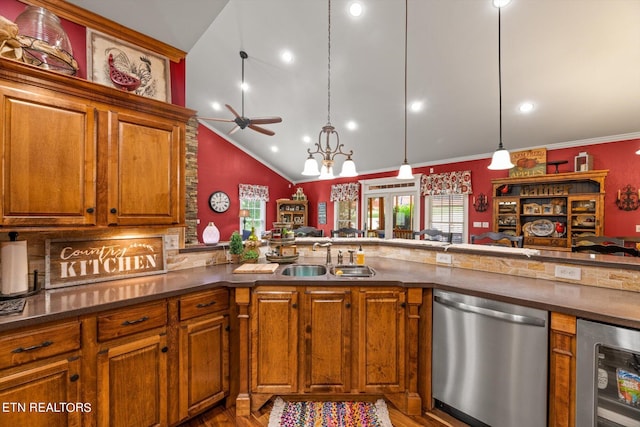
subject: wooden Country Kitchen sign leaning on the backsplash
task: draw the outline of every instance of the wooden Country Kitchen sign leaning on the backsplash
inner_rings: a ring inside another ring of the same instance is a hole
[[[164,238],[47,240],[45,288],[167,272]]]

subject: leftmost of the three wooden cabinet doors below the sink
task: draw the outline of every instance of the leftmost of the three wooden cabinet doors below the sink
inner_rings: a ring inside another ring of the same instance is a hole
[[[251,305],[251,391],[298,391],[298,291],[261,288]]]

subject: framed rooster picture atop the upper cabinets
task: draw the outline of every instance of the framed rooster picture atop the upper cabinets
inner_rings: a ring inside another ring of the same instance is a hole
[[[87,79],[171,102],[168,58],[87,28]]]

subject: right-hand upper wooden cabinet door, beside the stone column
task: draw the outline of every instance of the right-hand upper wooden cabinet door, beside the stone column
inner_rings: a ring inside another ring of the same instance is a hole
[[[110,114],[108,223],[182,222],[183,125],[151,116]]]

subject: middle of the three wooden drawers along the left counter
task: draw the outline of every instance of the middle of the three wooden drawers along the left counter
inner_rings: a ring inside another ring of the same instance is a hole
[[[110,340],[167,324],[167,304],[125,308],[98,316],[98,341]]]

